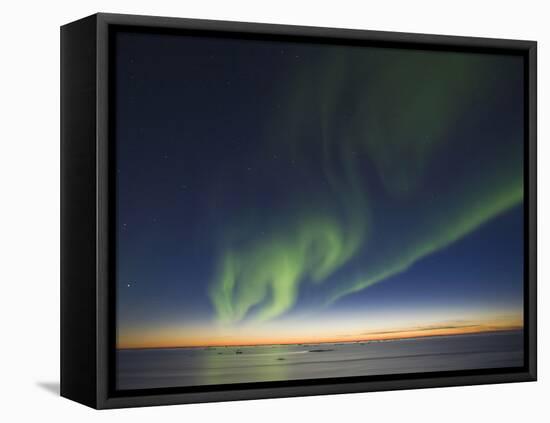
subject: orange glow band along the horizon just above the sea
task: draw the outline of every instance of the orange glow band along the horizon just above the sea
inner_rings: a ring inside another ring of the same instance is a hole
[[[341,328],[339,328],[341,329]],[[188,328],[185,331],[164,329],[146,333],[127,333],[118,337],[117,349],[236,347],[284,344],[321,344],[343,342],[388,341],[433,336],[466,335],[484,332],[523,329],[521,315],[487,316],[472,321],[442,321],[416,326],[394,326],[342,335],[335,328],[325,331],[294,331],[282,329],[216,331],[211,328]],[[178,332],[180,333],[178,335]],[[181,333],[184,332],[184,333]],[[342,330],[339,330],[341,333]],[[228,334],[229,333],[229,334]],[[308,333],[306,335],[306,333]]]

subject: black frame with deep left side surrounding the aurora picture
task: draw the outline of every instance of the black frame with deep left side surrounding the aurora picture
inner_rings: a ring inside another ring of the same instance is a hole
[[[111,34],[119,28],[514,53],[525,69],[525,366],[138,391],[114,389]],[[534,381],[536,321],[536,53],[534,41],[98,13],[61,27],[61,395],[97,409]]]

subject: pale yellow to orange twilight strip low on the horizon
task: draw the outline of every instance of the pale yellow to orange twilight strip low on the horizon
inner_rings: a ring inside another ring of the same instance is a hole
[[[412,319],[411,319],[412,320]],[[433,320],[423,319],[419,324],[370,326],[360,329],[361,323],[347,322],[339,327],[331,325],[305,324],[270,324],[238,329],[220,326],[194,325],[177,328],[139,329],[128,331],[119,336],[118,349],[141,348],[181,348],[181,347],[223,347],[253,346],[276,344],[320,344],[341,342],[367,342],[420,338],[429,336],[464,335],[482,332],[523,329],[523,318],[520,312],[506,314],[485,314],[474,319]],[[350,328],[347,332],[345,327]],[[364,326],[363,326],[364,327]]]

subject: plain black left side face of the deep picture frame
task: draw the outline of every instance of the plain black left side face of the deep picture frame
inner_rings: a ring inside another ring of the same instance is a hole
[[[61,396],[96,406],[95,24],[61,27]]]

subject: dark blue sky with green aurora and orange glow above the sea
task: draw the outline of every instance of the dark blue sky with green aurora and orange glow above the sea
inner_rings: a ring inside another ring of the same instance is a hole
[[[120,347],[522,324],[522,58],[116,48]]]

